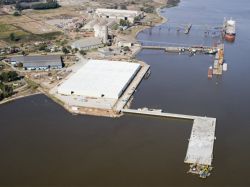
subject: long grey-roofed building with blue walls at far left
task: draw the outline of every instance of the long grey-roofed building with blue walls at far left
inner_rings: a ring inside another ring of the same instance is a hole
[[[62,58],[60,55],[46,56],[18,56],[10,59],[12,65],[23,64],[27,70],[46,70],[62,68]]]

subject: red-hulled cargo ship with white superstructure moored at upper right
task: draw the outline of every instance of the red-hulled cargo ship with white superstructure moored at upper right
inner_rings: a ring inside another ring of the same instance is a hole
[[[224,21],[224,38],[226,41],[233,42],[236,35],[236,22],[229,19]]]

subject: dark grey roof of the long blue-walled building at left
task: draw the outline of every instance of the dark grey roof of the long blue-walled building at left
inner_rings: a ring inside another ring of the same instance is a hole
[[[60,55],[18,56],[11,58],[10,61],[23,63],[23,67],[47,67],[62,65],[62,59]]]

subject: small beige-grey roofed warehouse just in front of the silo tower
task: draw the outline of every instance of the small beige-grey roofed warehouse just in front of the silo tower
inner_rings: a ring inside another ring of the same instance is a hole
[[[81,40],[77,40],[71,44],[72,48],[77,48],[79,50],[89,50],[99,47],[103,47],[104,44],[101,38],[88,37]]]

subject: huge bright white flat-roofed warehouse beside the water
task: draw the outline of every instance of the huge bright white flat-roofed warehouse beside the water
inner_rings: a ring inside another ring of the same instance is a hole
[[[89,60],[57,92],[65,96],[118,99],[140,68],[137,63]]]

